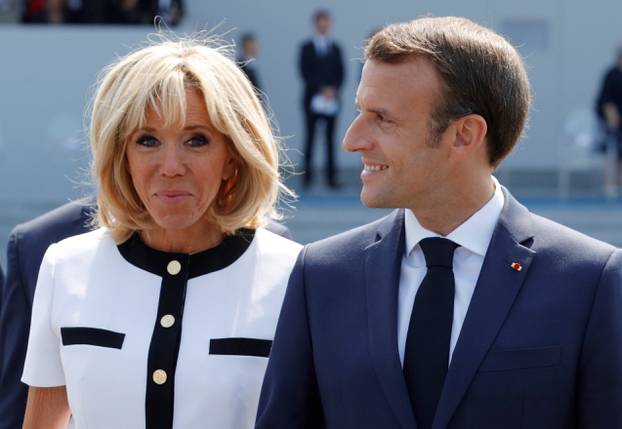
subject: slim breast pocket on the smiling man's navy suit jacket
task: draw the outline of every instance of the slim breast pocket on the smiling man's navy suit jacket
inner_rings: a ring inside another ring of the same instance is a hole
[[[560,360],[560,346],[491,350],[479,372],[556,366]]]

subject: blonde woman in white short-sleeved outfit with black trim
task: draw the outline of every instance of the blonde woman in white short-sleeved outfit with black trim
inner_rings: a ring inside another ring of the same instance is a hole
[[[221,48],[162,42],[94,99],[100,228],[50,246],[26,428],[252,427],[300,245],[262,228],[277,143]]]

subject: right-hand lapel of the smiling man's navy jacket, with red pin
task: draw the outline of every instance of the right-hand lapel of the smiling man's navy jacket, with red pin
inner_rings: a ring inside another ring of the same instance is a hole
[[[531,214],[505,188],[503,191],[504,208],[451,359],[433,429],[444,429],[449,424],[503,325],[535,255],[523,245],[533,236]],[[520,264],[520,270],[512,267],[514,262]]]

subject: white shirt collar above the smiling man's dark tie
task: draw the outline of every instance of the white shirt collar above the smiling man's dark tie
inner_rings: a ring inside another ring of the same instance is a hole
[[[495,185],[495,192],[490,200],[445,237],[480,256],[484,256],[488,250],[492,233],[495,230],[504,203],[501,185],[494,176],[492,180]],[[440,234],[421,226],[412,210],[404,211],[404,227],[406,230],[406,248],[404,249],[406,256],[410,255],[422,239],[441,237]]]

